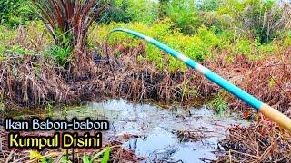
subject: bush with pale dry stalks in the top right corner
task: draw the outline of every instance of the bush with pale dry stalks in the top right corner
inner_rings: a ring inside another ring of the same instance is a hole
[[[282,7],[275,0],[226,0],[217,14],[227,15],[237,34],[247,34],[260,43],[270,43],[275,37],[276,25],[282,17]]]

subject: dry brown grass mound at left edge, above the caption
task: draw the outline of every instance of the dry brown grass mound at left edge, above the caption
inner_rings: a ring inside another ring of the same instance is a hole
[[[6,105],[41,106],[75,99],[65,79],[36,56],[8,58],[0,63],[1,94]]]

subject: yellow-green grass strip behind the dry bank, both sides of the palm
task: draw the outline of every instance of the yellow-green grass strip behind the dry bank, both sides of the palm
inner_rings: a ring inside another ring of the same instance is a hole
[[[236,37],[236,34],[227,30],[217,33],[215,27],[208,28],[204,25],[197,29],[196,34],[187,35],[182,33],[180,29],[173,28],[173,24],[169,19],[164,19],[154,24],[142,22],[99,24],[95,28],[91,28],[88,41],[92,49],[101,47],[105,43],[106,36],[110,30],[116,27],[124,27],[166,43],[197,62],[204,62],[209,58],[216,59],[219,53],[226,53],[226,60],[228,62],[234,62],[234,58],[238,54],[244,54],[249,60],[255,61],[291,45],[291,34],[281,34],[280,39],[272,43],[262,44],[257,39],[250,39],[244,36]],[[39,21],[30,22],[25,26],[24,30],[25,38],[22,39],[30,44],[18,43],[19,35],[17,29],[0,26],[0,60],[5,60],[5,55],[7,54],[34,55],[35,53],[44,53],[46,58],[52,59],[49,61],[55,61],[55,63],[60,65],[70,62],[70,46],[66,46],[68,47],[67,49],[56,46],[51,36],[45,33],[44,24]],[[45,44],[42,47],[34,45],[37,39],[39,39],[37,34],[43,34],[42,41]],[[138,47],[141,43],[146,45],[146,60],[154,62],[156,68],[160,70],[167,69],[169,72],[186,71],[186,65],[183,62],[177,61],[175,58],[157,49],[154,45],[136,39],[129,34],[115,33],[109,38],[111,46],[122,45],[130,49]],[[122,55],[118,51],[115,54],[116,56]],[[142,61],[141,57],[139,56],[140,61]]]

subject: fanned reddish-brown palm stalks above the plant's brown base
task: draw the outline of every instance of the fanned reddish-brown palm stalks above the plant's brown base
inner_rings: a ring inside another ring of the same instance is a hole
[[[90,26],[105,8],[96,0],[31,0],[55,44],[77,55],[86,56]],[[85,57],[84,56],[84,57]]]

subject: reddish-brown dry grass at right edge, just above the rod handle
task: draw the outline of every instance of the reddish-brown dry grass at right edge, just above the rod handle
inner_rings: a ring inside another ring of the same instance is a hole
[[[291,115],[290,48],[256,62],[250,62],[246,56],[239,55],[235,62],[226,63],[224,55],[221,55],[213,62],[206,62],[207,65],[261,101]],[[227,101],[236,110],[249,108],[234,96],[229,96]]]

